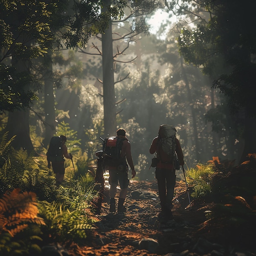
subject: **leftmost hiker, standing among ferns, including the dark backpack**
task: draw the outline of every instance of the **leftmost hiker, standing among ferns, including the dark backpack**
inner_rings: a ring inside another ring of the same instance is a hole
[[[52,168],[56,175],[56,186],[63,183],[65,158],[72,159],[73,157],[71,153],[67,153],[67,146],[65,145],[66,141],[67,137],[64,135],[52,137],[46,153],[48,168]]]

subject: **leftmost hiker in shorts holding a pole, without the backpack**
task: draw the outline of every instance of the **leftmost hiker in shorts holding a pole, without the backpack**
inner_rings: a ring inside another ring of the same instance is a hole
[[[65,174],[65,167],[64,167],[64,162],[65,162],[65,158],[68,159],[72,159],[72,154],[71,153],[67,153],[67,146],[65,145],[66,141],[67,141],[67,137],[64,135],[60,136],[62,139],[62,159],[61,161],[58,162],[52,162],[52,166],[51,166],[51,162],[47,159],[48,161],[48,168],[50,169],[52,167],[53,172],[56,175],[56,185],[59,186],[64,179],[64,174]],[[64,158],[65,157],[65,158]]]

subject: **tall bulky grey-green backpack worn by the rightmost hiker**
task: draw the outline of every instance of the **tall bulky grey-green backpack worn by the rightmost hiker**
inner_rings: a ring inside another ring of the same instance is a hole
[[[175,127],[168,124],[162,124],[158,132],[158,143],[162,150],[170,156],[170,162],[174,162],[176,159],[176,132]]]

